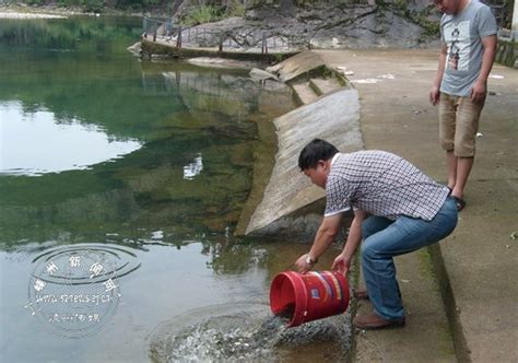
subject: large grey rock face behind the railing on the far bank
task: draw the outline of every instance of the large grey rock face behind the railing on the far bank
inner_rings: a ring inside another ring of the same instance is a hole
[[[297,2],[301,3],[301,2]],[[438,25],[439,16],[429,1],[311,1],[307,5],[279,7],[259,1],[246,5],[245,17],[229,17],[220,22],[201,24],[191,30],[204,37],[203,46],[219,45],[221,34],[225,47],[261,48],[263,37],[271,45],[290,49],[307,48],[415,48],[437,46],[438,34],[431,24]],[[197,31],[196,31],[197,30]],[[438,30],[438,26],[437,26]],[[184,40],[186,43],[186,40]],[[195,42],[192,42],[195,44]],[[281,44],[281,46],[280,46]]]

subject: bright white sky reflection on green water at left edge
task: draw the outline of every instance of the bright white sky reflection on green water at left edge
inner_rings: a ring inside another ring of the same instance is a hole
[[[23,113],[19,102],[0,102],[0,174],[37,176],[122,156],[141,148],[136,140],[117,140],[75,119],[57,124],[52,113]]]

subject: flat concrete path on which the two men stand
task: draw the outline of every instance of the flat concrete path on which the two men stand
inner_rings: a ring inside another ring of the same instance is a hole
[[[427,99],[437,51],[318,54],[330,68],[354,72],[348,78],[360,93],[366,148],[400,154],[444,183],[437,108]],[[438,280],[420,262],[425,251],[398,258],[408,325],[360,332],[357,361],[518,362],[518,71],[495,66],[488,91],[468,206],[432,249]]]

